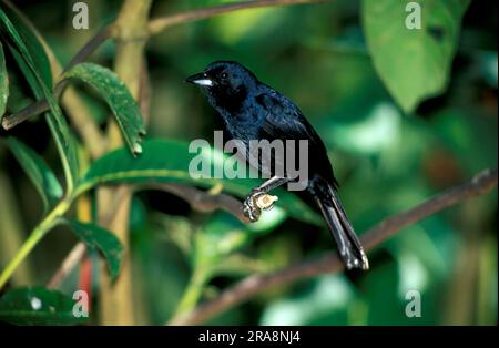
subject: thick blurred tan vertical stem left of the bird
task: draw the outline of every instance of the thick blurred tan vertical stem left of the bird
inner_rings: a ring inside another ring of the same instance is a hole
[[[126,0],[114,22],[116,55],[114,71],[126,85],[135,100],[140,95],[140,73],[144,61],[144,47],[147,40],[147,20],[151,0]],[[118,124],[111,121],[108,126],[108,150],[122,145]],[[121,196],[118,203],[114,197]],[[129,244],[129,218],[132,193],[126,186],[102,187],[98,191],[99,219],[102,224],[112,216],[105,227],[113,231],[124,247],[120,277],[112,284],[106,273],[101,277],[100,313],[103,325],[135,324],[133,301],[133,279]]]

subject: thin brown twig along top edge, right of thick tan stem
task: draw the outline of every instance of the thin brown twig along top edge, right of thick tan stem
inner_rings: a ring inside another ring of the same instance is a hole
[[[198,21],[202,19],[211,18],[227,12],[234,12],[238,10],[274,7],[274,6],[326,2],[326,1],[327,0],[253,0],[253,1],[238,1],[232,3],[224,3],[211,8],[202,8],[198,10],[185,11],[177,14],[153,19],[149,22],[149,32],[150,34],[156,34],[165,30],[166,28],[176,24]]]

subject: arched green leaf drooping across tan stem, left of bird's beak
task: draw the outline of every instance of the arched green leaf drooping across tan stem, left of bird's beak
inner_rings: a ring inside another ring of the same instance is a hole
[[[145,126],[141,111],[114,72],[101,65],[81,63],[67,71],[63,79],[78,79],[94,88],[111,108],[132,154],[142,152]]]

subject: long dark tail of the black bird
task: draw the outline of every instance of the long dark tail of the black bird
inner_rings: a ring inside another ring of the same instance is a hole
[[[367,256],[346,216],[336,190],[324,181],[317,181],[314,184],[314,198],[320,207],[346,267],[368,269]]]

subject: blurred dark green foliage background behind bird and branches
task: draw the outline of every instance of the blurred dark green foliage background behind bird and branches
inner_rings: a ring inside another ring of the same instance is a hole
[[[73,2],[16,1],[63,64],[121,7],[121,1],[85,1],[90,29],[74,30]],[[151,16],[221,2],[154,1]],[[471,2],[447,90],[408,113],[374,68],[359,1],[246,10],[173,27],[152,37],[145,49],[152,85],[149,136],[211,141],[213,130],[222,124],[200,91],[183,81],[212,61],[238,61],[295,101],[316,126],[328,146],[340,197],[361,234],[384,217],[497,166],[497,12],[493,1]],[[113,57],[114,44],[109,42],[91,61],[112,66]],[[410,70],[408,65],[408,74]],[[83,92],[95,120],[103,123],[108,109],[91,92]],[[19,83],[11,88],[11,100],[19,109],[30,96]],[[11,134],[49,163],[58,163],[42,119]],[[1,147],[2,265],[6,249],[24,239],[41,216],[35,196],[13,156]],[[251,238],[215,262],[203,299],[253,272],[277,269],[335,247],[325,226],[277,216],[248,232],[225,213],[206,216],[157,192],[134,196],[130,224],[140,324],[166,321],[195,266],[193,249],[222,243],[234,231]],[[74,242],[63,228],[49,234],[23,267],[24,283],[45,283]],[[272,289],[210,324],[496,324],[497,255],[495,191],[405,228],[369,253],[367,273],[327,275]],[[232,267],[221,266],[227,264]],[[78,269],[62,289],[72,291],[77,284]],[[419,318],[405,315],[408,290],[421,294]]]

